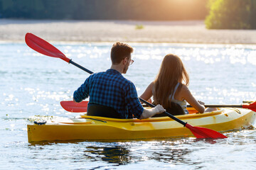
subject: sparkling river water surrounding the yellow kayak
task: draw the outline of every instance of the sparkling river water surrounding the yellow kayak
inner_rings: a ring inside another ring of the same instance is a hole
[[[110,43],[54,43],[74,62],[100,72],[110,67]],[[240,104],[256,98],[256,45],[131,44],[134,64],[125,77],[138,94],[154,80],[164,55],[181,57],[189,88],[206,104]],[[33,120],[70,118],[60,101],[89,76],[25,43],[0,43],[0,169],[255,169],[256,130],[228,132],[224,140],[191,138],[67,142],[31,145]]]

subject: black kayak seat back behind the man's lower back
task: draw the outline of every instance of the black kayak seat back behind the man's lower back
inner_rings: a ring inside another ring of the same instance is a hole
[[[105,118],[121,118],[120,114],[117,113],[114,108],[95,103],[88,104],[87,115],[100,116]]]

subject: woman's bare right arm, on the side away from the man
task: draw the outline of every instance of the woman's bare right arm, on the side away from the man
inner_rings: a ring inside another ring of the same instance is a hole
[[[181,96],[183,96],[183,98],[193,107],[196,108],[196,111],[198,111],[199,113],[204,113],[205,111],[205,107],[203,106],[203,104],[199,103],[198,101],[196,101],[196,98],[193,97],[193,95],[191,94],[191,91],[189,91],[188,87],[183,85],[181,87]]]

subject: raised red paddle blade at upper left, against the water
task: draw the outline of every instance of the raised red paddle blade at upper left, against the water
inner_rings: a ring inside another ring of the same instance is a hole
[[[58,57],[65,62],[70,62],[70,59],[68,57],[65,57],[65,55],[60,52],[56,47],[51,45],[46,40],[43,40],[42,38],[38,38],[38,36],[33,35],[32,33],[26,33],[25,41],[28,47],[31,47],[33,50],[50,57]]]

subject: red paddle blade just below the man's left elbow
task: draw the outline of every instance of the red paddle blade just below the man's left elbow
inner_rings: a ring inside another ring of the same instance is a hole
[[[82,101],[80,103],[75,103],[74,101],[60,101],[60,105],[69,112],[87,112],[88,101]]]

